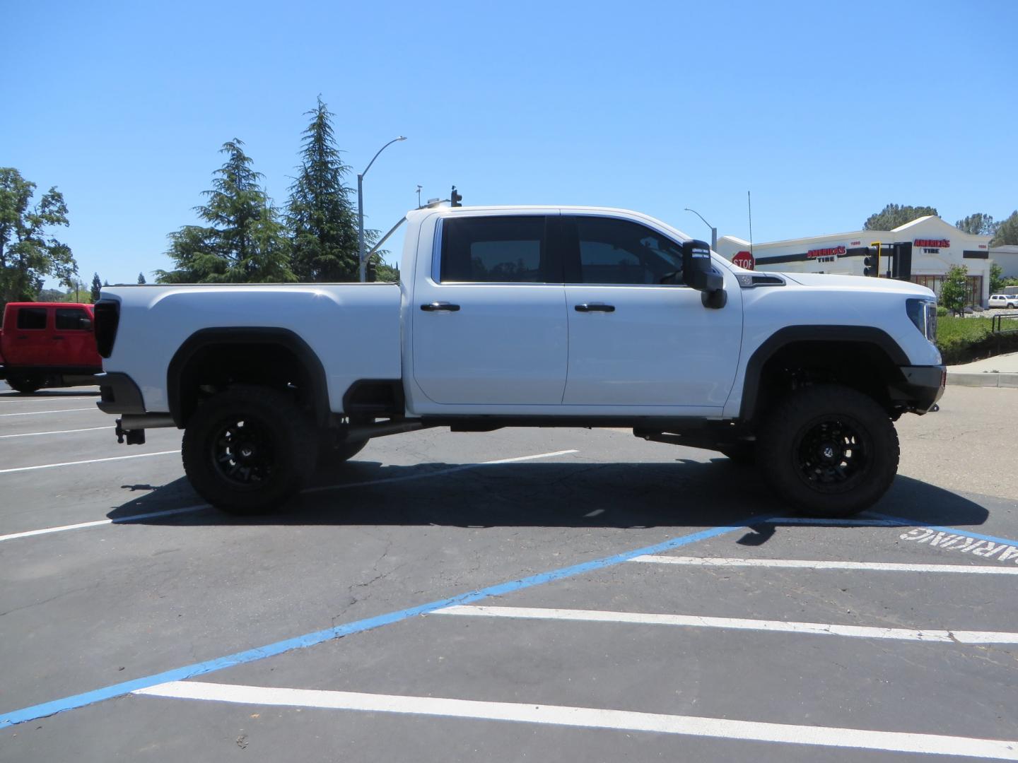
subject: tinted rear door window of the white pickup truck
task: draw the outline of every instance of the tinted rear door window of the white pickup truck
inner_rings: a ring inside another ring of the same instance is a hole
[[[447,218],[442,223],[441,280],[549,283],[553,269],[547,249],[541,215]]]

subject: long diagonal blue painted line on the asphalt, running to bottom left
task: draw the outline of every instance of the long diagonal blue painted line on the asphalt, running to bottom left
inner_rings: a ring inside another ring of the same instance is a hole
[[[32,707],[25,707],[20,710],[4,713],[0,716],[0,728],[6,728],[7,726],[24,723],[30,720],[38,720],[39,718],[44,718],[47,715],[53,715],[55,713],[63,712],[64,710],[73,710],[78,707],[95,704],[96,702],[102,702],[103,700],[113,699],[114,697],[122,697],[123,695],[130,694],[138,689],[148,689],[170,681],[183,681],[194,676],[202,676],[204,673],[222,670],[225,667],[232,667],[233,665],[240,665],[246,662],[257,662],[258,660],[265,659],[266,657],[274,657],[277,654],[283,654],[284,652],[289,652],[294,649],[304,649],[308,646],[315,646],[316,644],[321,644],[322,642],[329,641],[330,639],[350,636],[355,633],[362,633],[364,631],[371,631],[375,628],[391,625],[392,623],[399,623],[407,620],[408,618],[413,618],[417,614],[427,614],[428,612],[435,611],[436,609],[441,609],[446,606],[469,604],[491,596],[501,596],[523,588],[532,588],[533,586],[544,585],[545,583],[551,583],[555,580],[571,578],[576,575],[582,575],[584,573],[601,570],[606,567],[613,567],[623,562],[628,562],[634,556],[639,556],[645,553],[660,553],[661,551],[667,551],[671,548],[689,545],[690,543],[696,543],[700,540],[708,540],[709,538],[724,535],[728,532],[734,532],[735,530],[742,530],[745,529],[747,525],[765,522],[768,518],[769,517],[767,516],[750,517],[738,525],[713,527],[709,530],[701,530],[700,532],[694,532],[689,535],[681,535],[662,543],[645,546],[643,548],[637,548],[632,551],[625,551],[624,553],[619,553],[614,556],[607,556],[605,559],[595,560],[593,562],[584,562],[580,565],[573,565],[572,567],[565,567],[560,570],[553,570],[552,572],[540,573],[538,575],[531,575],[529,577],[509,581],[507,583],[499,583],[488,588],[469,591],[467,593],[462,593],[458,596],[452,596],[451,598],[442,599],[440,601],[432,601],[427,604],[411,606],[408,609],[400,609],[399,611],[389,612],[388,614],[380,614],[377,618],[358,620],[353,623],[336,626],[335,628],[328,628],[324,631],[316,631],[314,633],[297,636],[292,639],[277,641],[274,644],[267,644],[266,646],[260,646],[243,652],[228,654],[225,657],[218,657],[216,659],[206,660],[205,662],[195,662],[194,664],[178,667],[173,670],[166,670],[165,672],[146,676],[145,678],[134,679],[133,681],[125,681],[103,689],[84,692],[83,694],[75,694],[70,697],[53,700],[52,702],[44,702],[41,705],[33,705]]]

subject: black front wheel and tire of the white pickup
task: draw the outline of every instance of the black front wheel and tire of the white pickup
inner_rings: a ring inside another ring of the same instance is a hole
[[[871,398],[817,385],[785,398],[764,424],[759,462],[778,495],[815,517],[848,517],[887,492],[898,433]]]

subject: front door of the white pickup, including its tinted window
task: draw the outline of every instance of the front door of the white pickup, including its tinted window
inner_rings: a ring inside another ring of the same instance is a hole
[[[739,359],[738,290],[721,309],[706,308],[699,292],[681,284],[681,246],[668,236],[632,220],[562,220],[572,242],[563,402],[720,412]]]

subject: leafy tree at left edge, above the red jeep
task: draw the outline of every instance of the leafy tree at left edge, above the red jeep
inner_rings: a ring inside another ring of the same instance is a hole
[[[63,194],[53,187],[33,204],[35,192],[13,167],[0,167],[0,308],[35,299],[47,277],[70,285],[77,273],[70,247],[48,231],[68,225]]]

